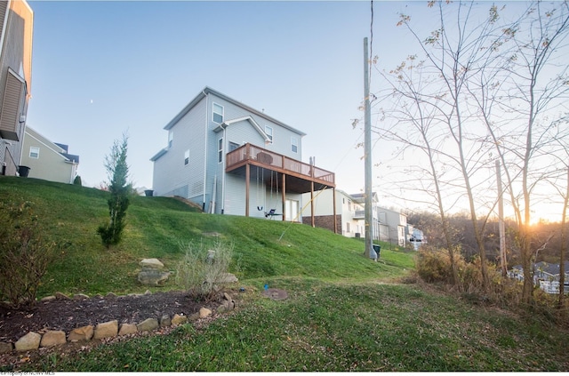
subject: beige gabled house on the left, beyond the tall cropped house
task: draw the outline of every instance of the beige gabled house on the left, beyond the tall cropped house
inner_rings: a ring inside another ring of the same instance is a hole
[[[29,167],[30,178],[73,183],[79,156],[68,154],[67,145],[52,142],[27,126],[20,164]]]

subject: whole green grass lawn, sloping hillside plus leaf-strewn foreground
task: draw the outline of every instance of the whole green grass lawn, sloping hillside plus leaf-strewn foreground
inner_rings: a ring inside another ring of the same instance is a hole
[[[413,252],[382,244],[373,262],[363,257],[361,240],[301,224],[199,213],[163,197],[134,197],[124,243],[109,251],[96,234],[107,195],[0,177],[0,200],[34,202],[45,234],[58,244],[40,296],[143,292],[136,281],[141,258],[175,269],[180,243],[220,239],[234,247],[233,294],[241,304],[211,324],[88,352],[55,351],[19,364],[21,371],[569,371],[564,330],[421,284],[398,284],[413,268]],[[262,298],[263,284],[289,297]],[[171,281],[162,289],[180,286]]]

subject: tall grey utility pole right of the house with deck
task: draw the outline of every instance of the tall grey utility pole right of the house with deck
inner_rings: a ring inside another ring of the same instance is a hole
[[[364,148],[365,148],[365,257],[377,260],[373,250],[373,207],[372,207],[372,112],[370,109],[370,79],[367,38],[364,38]]]

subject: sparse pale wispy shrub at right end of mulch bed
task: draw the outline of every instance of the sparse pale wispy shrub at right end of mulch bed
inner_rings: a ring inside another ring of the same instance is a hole
[[[204,244],[181,244],[185,251],[180,261],[176,282],[182,284],[196,300],[212,300],[226,284],[233,246],[216,242],[211,248]]]

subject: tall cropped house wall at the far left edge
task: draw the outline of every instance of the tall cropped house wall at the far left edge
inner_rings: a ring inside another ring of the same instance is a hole
[[[34,12],[24,0],[0,1],[0,174],[19,172],[32,83]]]

